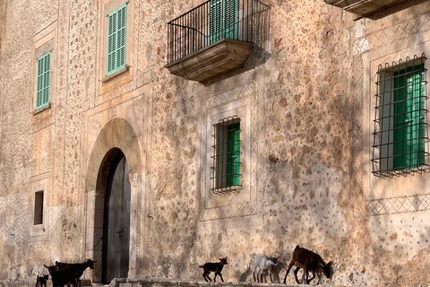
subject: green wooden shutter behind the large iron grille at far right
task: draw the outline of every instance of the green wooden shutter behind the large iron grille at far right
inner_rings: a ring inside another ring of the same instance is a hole
[[[424,65],[394,74],[394,170],[425,163]]]

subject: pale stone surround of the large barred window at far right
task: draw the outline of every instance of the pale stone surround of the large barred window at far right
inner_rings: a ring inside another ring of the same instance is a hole
[[[415,172],[413,176],[395,175],[392,177],[378,177],[372,172],[372,152],[374,144],[374,107],[376,106],[378,67],[385,63],[397,63],[400,59],[407,59],[414,55],[428,56],[427,45],[430,39],[415,46],[399,48],[392,46],[389,49],[378,48],[370,50],[366,57],[363,57],[363,203],[357,204],[355,208],[356,216],[359,213],[364,215],[380,215],[387,213],[403,213],[402,211],[414,212],[418,208],[414,204],[408,205],[415,196],[425,195],[423,185],[428,184],[427,172]],[[425,66],[428,68],[428,59]],[[426,79],[429,79],[430,70],[426,70]],[[426,89],[428,95],[428,89]],[[428,107],[428,100],[426,100]],[[426,135],[430,135],[430,126],[426,126]],[[426,143],[426,151],[430,151],[430,144]],[[406,200],[399,200],[406,198]],[[381,205],[381,203],[383,203]],[[392,206],[392,207],[390,207]],[[411,207],[412,206],[412,207]]]

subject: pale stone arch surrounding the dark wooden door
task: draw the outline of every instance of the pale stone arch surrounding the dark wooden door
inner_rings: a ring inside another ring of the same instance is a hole
[[[125,154],[131,182],[130,234],[137,234],[138,198],[141,190],[142,158],[141,148],[133,126],[124,118],[116,117],[107,122],[98,137],[90,154],[85,178],[86,234],[85,256],[98,261],[90,273],[90,279],[101,282],[102,248],[103,248],[103,212],[107,188],[108,171],[116,154]],[[137,179],[133,177],[137,174]],[[130,238],[130,262],[128,277],[133,277],[136,266],[137,237]]]

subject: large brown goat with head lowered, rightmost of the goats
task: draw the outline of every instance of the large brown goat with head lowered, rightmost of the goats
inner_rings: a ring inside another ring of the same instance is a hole
[[[318,274],[318,283],[320,284],[322,281],[322,278],[320,276],[320,270],[323,270],[323,273],[325,276],[329,279],[331,279],[333,275],[333,263],[330,261],[328,264],[326,264],[322,257],[320,257],[318,254],[307,250],[305,248],[300,248],[298,245],[294,249],[293,256],[291,258],[291,262],[288,265],[287,274],[285,274],[284,277],[284,283],[287,281],[287,276],[289,273],[289,270],[293,265],[296,265],[296,270],[294,270],[294,276],[296,278],[296,282],[300,283],[297,278],[297,272],[300,268],[304,269],[304,277],[306,280],[306,284],[309,284],[312,280],[315,278],[315,273]],[[313,277],[309,279],[309,271],[313,273]]]

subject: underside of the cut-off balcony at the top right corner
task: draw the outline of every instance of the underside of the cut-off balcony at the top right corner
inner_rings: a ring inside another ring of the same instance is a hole
[[[342,8],[358,17],[365,17],[389,6],[405,3],[405,0],[324,0],[325,3]]]

